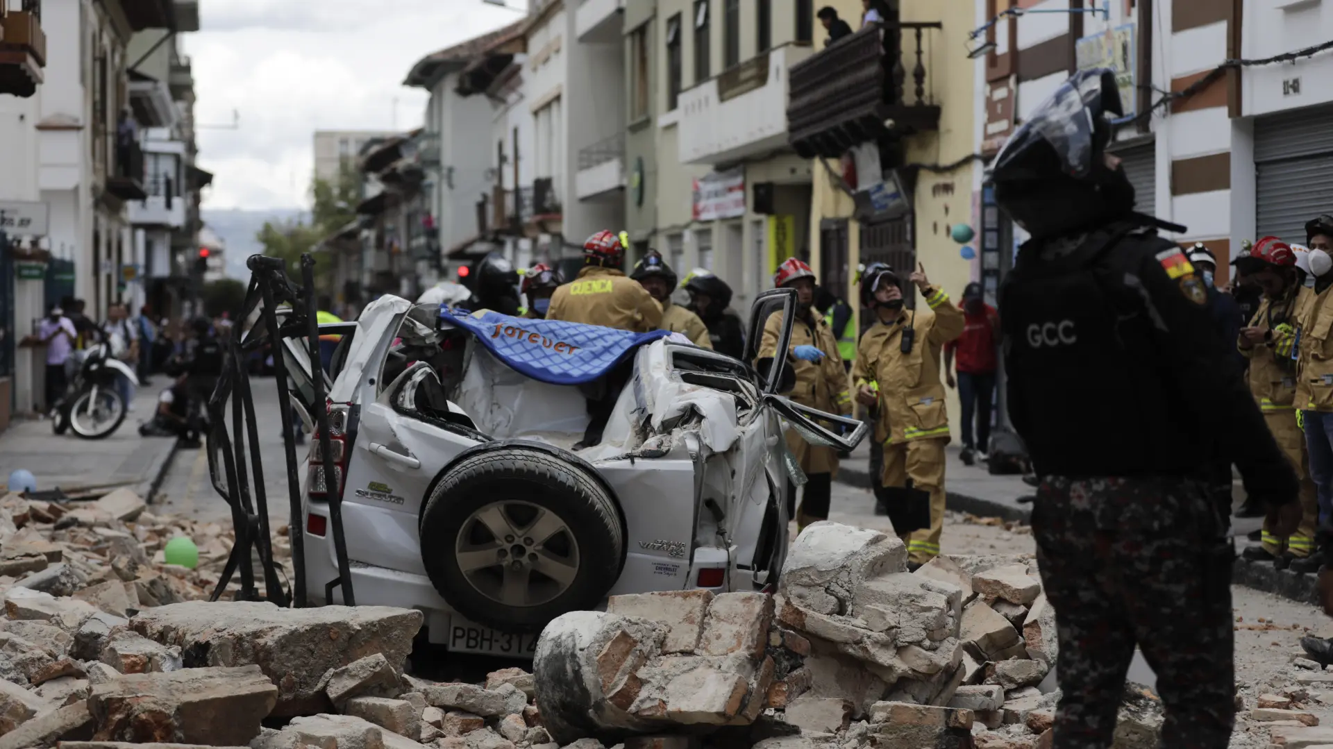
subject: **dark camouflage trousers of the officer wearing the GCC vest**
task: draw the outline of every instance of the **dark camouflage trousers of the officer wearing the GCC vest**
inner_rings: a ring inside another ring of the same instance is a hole
[[[1032,513],[1056,609],[1053,749],[1105,749],[1134,645],[1165,706],[1160,746],[1225,749],[1234,722],[1234,550],[1189,480],[1045,477]]]

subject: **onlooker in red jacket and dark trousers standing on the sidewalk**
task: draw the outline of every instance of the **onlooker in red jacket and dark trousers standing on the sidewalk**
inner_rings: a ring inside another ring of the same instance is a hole
[[[981,284],[973,281],[962,289],[962,335],[944,344],[944,382],[958,388],[962,402],[962,462],[982,462],[990,449],[990,404],[994,402],[996,371],[1000,368],[996,347],[1000,343],[1000,313],[982,300]],[[958,378],[954,381],[954,355]],[[976,418],[976,441],[972,420]]]

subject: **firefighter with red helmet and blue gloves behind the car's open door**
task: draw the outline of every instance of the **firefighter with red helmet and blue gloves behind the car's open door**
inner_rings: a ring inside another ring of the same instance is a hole
[[[814,272],[797,259],[789,259],[773,275],[773,285],[796,289],[796,324],[785,356],[796,374],[796,386],[785,393],[793,401],[828,413],[852,414],[852,397],[846,389],[846,369],[837,353],[837,340],[822,317],[812,312],[814,304]],[[764,323],[764,336],[758,345],[758,359],[776,356],[777,339],[782,332],[782,315],[773,313]],[[796,488],[788,482],[786,513],[796,516],[797,529],[829,516],[833,474],[837,473],[837,452],[833,448],[813,446],[794,430],[786,433],[786,446],[805,473],[805,493],[797,510]],[[793,512],[794,510],[794,512]]]

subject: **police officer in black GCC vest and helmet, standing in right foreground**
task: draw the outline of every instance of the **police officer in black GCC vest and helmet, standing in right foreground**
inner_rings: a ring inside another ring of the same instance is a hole
[[[1000,207],[1032,239],[1000,293],[1010,418],[1041,476],[1032,513],[1056,610],[1054,749],[1112,744],[1137,645],[1165,704],[1160,746],[1222,749],[1234,720],[1234,550],[1196,478],[1237,465],[1294,530],[1297,478],[1168,225],[1133,213],[1105,153],[1110,71],[1082,71],[996,156]],[[1174,231],[1180,231],[1176,228]]]

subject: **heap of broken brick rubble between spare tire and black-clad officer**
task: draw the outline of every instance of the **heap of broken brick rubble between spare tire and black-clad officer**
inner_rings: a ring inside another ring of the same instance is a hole
[[[1056,657],[1030,556],[937,557],[909,573],[898,538],[818,522],[776,597],[617,596],[548,625],[533,673],[560,742],[1022,749],[1050,729],[1058,690],[1038,685]],[[1141,700],[1126,700],[1117,746],[1133,748],[1161,710],[1146,690],[1126,694]]]

